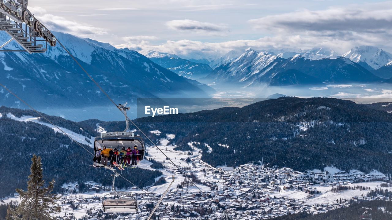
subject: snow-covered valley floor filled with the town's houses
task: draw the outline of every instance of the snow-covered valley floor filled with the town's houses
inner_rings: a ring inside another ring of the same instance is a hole
[[[36,117],[24,116],[17,118],[11,114],[7,117],[51,126],[37,121]],[[56,130],[56,128],[53,129]],[[83,144],[89,144],[81,135],[74,134],[69,130],[66,130],[66,132]],[[159,134],[159,131],[151,132]],[[214,168],[201,160],[201,151],[197,148],[194,148],[193,155],[189,155],[188,151],[174,150],[176,146],[169,144],[172,138],[174,138],[174,135],[167,134],[166,138],[160,140],[158,148],[165,155],[156,147],[146,145],[148,155],[138,166],[153,170],[151,168],[152,163],[147,159],[162,162],[164,168],[160,170],[166,183],[145,188],[146,191],[150,192],[149,194],[135,188],[132,189],[131,186],[124,189],[139,195],[139,213],[128,215],[127,218],[146,219],[150,211],[146,207],[147,204],[156,202],[160,198],[169,186],[172,175],[175,177],[174,183],[156,213],[156,215],[162,217],[168,216],[168,219],[176,213],[181,213],[179,215],[183,218],[191,217],[191,219],[200,219],[200,216],[217,216],[218,219],[224,219],[226,215],[231,219],[238,220],[245,216],[252,219],[265,219],[302,211],[322,213],[348,206],[351,199],[387,199],[381,195],[372,198],[367,197],[370,190],[380,188],[382,183],[388,181],[385,175],[376,171],[371,174],[356,170],[346,173],[336,168],[326,168],[325,171],[314,170],[304,173],[290,168],[268,168],[254,164],[245,164],[238,168]],[[91,144],[89,145],[91,146]],[[166,160],[166,157],[172,159],[176,165]],[[190,162],[186,162],[188,158]],[[185,177],[182,173],[196,176],[202,184],[196,184],[196,187],[192,183],[184,182]],[[156,180],[158,179],[160,177],[156,178]],[[181,188],[180,185],[183,187]],[[74,185],[70,184],[70,186],[74,188]],[[349,186],[355,189],[333,192],[332,187],[338,186]],[[382,189],[392,191],[390,186],[382,187]],[[199,189],[203,192],[201,193]],[[73,190],[77,191],[76,189]],[[102,213],[100,217],[98,217],[98,213],[102,212],[100,211],[101,199],[105,194],[105,192],[64,194],[62,199],[59,200],[62,213],[56,216],[64,220],[71,213],[78,219],[86,215],[87,210],[92,209],[96,211],[92,211],[87,218],[103,219],[105,213]],[[11,200],[18,200],[18,198],[8,197],[3,199],[2,203]],[[78,208],[71,209],[71,203],[74,206],[77,205]],[[176,210],[172,210],[173,207]]]

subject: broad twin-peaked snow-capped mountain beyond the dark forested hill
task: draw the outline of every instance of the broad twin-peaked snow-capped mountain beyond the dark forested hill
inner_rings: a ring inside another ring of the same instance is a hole
[[[330,49],[317,48],[289,59],[249,49],[232,63],[216,68],[204,83],[227,82],[243,87],[381,82],[382,79]]]

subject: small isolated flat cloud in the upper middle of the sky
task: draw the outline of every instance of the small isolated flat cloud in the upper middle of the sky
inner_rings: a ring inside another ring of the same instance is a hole
[[[199,34],[221,35],[227,31],[225,24],[213,24],[194,20],[172,20],[166,22],[167,27],[175,31],[191,31]]]

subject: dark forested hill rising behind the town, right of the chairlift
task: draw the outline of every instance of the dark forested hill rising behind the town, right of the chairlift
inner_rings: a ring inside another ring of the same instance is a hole
[[[179,148],[200,142],[202,159],[213,166],[263,161],[301,171],[336,166],[392,173],[392,115],[347,100],[281,97],[242,108],[145,117],[136,122],[145,131],[175,134]],[[101,125],[108,130],[124,126]]]

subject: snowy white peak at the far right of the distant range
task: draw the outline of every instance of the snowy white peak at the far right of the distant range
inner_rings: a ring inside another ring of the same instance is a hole
[[[371,46],[354,47],[342,56],[368,70],[379,69],[392,61],[392,54]]]

